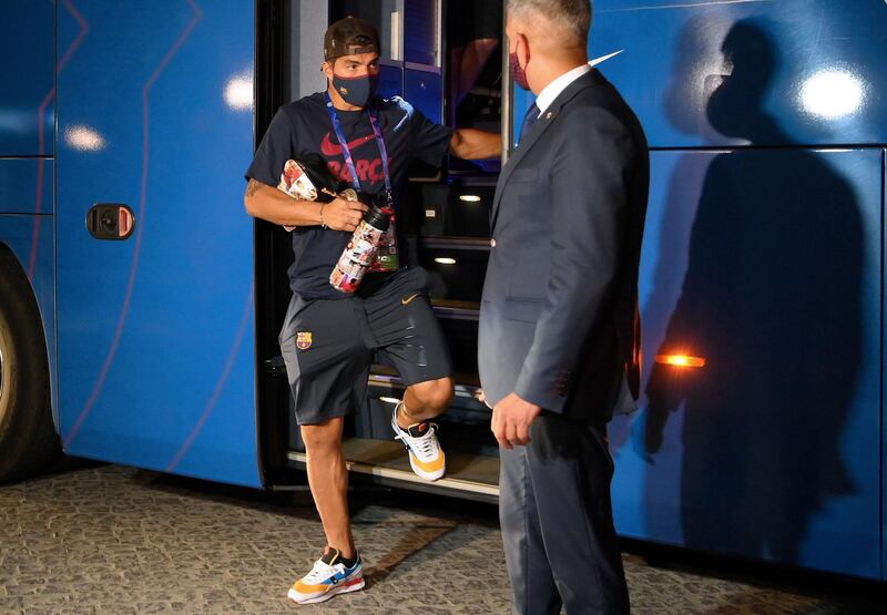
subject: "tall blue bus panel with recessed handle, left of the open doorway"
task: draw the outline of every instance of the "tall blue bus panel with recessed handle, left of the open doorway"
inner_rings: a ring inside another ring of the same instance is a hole
[[[65,4],[71,4],[65,2]],[[252,2],[77,0],[60,40],[61,435],[73,454],[258,485]],[[73,14],[73,13],[72,13]],[[93,239],[95,203],[135,230]]]

